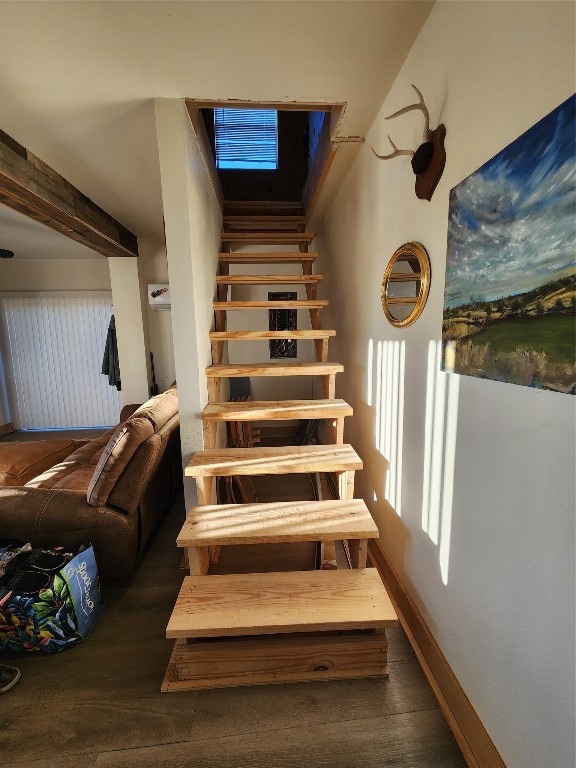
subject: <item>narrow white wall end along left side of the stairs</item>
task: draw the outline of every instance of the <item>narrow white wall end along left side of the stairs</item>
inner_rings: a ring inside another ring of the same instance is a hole
[[[205,369],[222,214],[180,99],[157,99],[156,128],[166,227],[182,460],[203,447],[199,414],[207,402]],[[185,484],[186,503],[196,499]]]

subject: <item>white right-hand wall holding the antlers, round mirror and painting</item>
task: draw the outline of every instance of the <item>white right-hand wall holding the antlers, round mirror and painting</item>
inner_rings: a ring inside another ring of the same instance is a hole
[[[380,543],[509,768],[574,765],[574,398],[446,376],[441,335],[450,189],[570,96],[572,3],[437,3],[326,216],[320,269],[354,406],[345,439]],[[408,158],[424,93],[447,164],[417,200]],[[380,283],[395,249],[427,248],[423,315],[390,326]]]

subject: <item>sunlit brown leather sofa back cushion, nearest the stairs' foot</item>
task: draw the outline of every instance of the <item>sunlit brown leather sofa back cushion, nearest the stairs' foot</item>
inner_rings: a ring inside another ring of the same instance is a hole
[[[117,427],[100,455],[86,495],[88,504],[93,507],[106,504],[110,491],[132,456],[140,445],[154,434],[152,422],[137,414],[138,411]]]

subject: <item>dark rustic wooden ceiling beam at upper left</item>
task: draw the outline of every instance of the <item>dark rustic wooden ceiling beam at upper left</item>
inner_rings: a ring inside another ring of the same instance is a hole
[[[103,256],[138,256],[132,232],[1,130],[0,203]]]

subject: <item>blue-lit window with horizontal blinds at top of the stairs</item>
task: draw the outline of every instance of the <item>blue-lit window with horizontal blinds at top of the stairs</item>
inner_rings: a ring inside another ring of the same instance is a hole
[[[275,171],[278,168],[278,112],[275,109],[214,110],[216,166]]]

